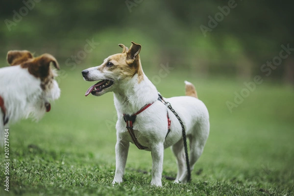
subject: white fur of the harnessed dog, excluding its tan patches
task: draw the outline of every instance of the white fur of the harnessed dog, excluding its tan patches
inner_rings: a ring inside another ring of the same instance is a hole
[[[105,62],[104,62],[105,63]],[[103,65],[103,64],[102,64]],[[102,66],[101,65],[101,66]],[[174,114],[160,101],[157,101],[158,92],[155,86],[144,74],[144,79],[138,83],[138,75],[131,79],[118,79],[118,75],[109,71],[100,72],[99,67],[89,68],[84,76],[87,81],[111,79],[114,84],[102,90],[99,95],[106,92],[114,92],[114,103],[117,110],[118,121],[116,143],[116,171],[113,184],[123,182],[129,143],[133,143],[123,120],[123,114],[134,114],[144,105],[155,101],[145,111],[140,113],[134,126],[135,135],[146,150],[151,151],[152,156],[152,180],[151,185],[162,186],[161,177],[163,170],[164,149],[172,146],[172,151],[177,159],[178,172],[175,182],[187,181],[187,168],[185,162],[184,146],[182,141],[182,128]],[[165,98],[172,104],[174,110],[182,119],[187,138],[190,140],[190,166],[191,171],[202,154],[204,145],[209,135],[209,114],[202,101],[194,97]],[[167,111],[171,118],[171,132],[168,131]]]

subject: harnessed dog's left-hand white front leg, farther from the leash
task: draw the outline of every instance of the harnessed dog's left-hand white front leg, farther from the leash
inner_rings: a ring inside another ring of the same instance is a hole
[[[123,173],[127,159],[129,142],[124,142],[118,138],[115,145],[115,175],[112,184],[123,182]]]

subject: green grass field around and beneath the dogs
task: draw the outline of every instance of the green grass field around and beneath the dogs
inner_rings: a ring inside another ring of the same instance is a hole
[[[146,72],[148,76],[156,72]],[[84,97],[92,84],[79,70],[60,81],[61,98],[39,122],[10,126],[10,187],[4,191],[1,151],[0,195],[294,195],[294,90],[263,83],[230,113],[243,81],[197,78],[174,70],[157,84],[165,97],[184,95],[193,82],[210,112],[211,130],[192,182],[150,187],[151,155],[131,145],[124,182],[112,186],[116,113],[113,95]],[[175,177],[176,163],[165,150],[163,175]]]

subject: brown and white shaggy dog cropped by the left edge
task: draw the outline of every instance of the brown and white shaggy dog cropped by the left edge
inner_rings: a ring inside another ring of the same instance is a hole
[[[0,68],[0,143],[8,123],[28,117],[41,119],[50,111],[49,101],[60,96],[50,63],[58,70],[59,65],[52,55],[33,57],[27,50],[11,50],[7,61],[11,66]]]

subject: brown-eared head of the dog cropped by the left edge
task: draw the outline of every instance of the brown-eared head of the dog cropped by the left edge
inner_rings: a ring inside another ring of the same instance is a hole
[[[39,101],[43,102],[41,107],[45,107],[46,111],[49,112],[51,108],[49,100],[57,99],[60,96],[60,89],[54,79],[57,74],[50,67],[50,63],[52,63],[59,70],[57,60],[47,53],[33,57],[27,50],[10,50],[7,53],[7,61],[11,66],[20,66],[27,69],[28,73],[40,80],[42,95]]]

